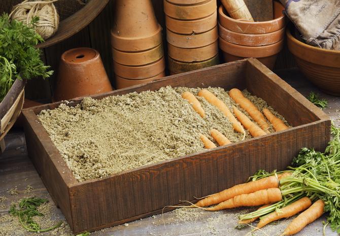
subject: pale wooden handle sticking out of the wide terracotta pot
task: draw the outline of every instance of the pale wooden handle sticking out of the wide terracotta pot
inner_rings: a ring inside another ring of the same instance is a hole
[[[243,0],[221,0],[221,2],[231,18],[254,21]]]

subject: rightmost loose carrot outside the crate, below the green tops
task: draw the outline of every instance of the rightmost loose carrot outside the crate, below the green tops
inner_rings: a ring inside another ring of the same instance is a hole
[[[285,231],[281,234],[292,235],[299,232],[304,226],[312,223],[324,213],[325,203],[322,199],[317,200],[309,209],[302,212],[292,220]]]

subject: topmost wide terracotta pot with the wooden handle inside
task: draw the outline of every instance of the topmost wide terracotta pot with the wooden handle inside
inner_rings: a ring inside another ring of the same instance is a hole
[[[249,33],[257,35],[259,33],[270,33],[282,29],[286,25],[286,17],[283,14],[285,8],[277,1],[274,1],[274,20],[250,22],[245,20],[235,20],[227,16],[226,10],[221,5],[218,9],[219,23],[234,32]]]

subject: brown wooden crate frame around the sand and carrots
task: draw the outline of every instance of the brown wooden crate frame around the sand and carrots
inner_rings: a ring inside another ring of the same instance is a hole
[[[247,88],[282,114],[292,128],[209,151],[161,161],[103,179],[78,183],[37,114],[60,103],[23,111],[28,154],[74,232],[97,230],[158,214],[247,180],[259,168],[283,170],[302,147],[324,150],[330,120],[320,109],[256,59],[245,59],[92,96],[157,90],[171,85]],[[75,106],[82,98],[74,99]]]

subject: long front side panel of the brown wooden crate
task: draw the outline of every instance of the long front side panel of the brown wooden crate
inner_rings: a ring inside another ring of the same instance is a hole
[[[74,231],[94,230],[148,216],[235,184],[255,171],[284,170],[301,147],[324,150],[330,121],[139,168],[70,188]],[[96,205],[94,206],[94,203]],[[151,213],[150,213],[151,212]],[[148,214],[150,213],[150,214]]]

